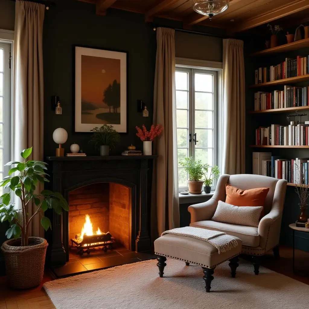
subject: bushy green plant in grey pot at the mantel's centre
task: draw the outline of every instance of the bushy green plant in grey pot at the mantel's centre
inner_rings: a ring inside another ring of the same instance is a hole
[[[102,125],[100,128],[95,127],[92,130],[93,135],[89,142],[100,149],[100,155],[109,155],[109,149],[113,150],[120,142],[120,135],[112,125]]]

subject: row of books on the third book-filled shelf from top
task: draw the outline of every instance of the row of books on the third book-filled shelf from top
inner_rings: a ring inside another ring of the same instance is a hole
[[[290,125],[271,125],[259,127],[255,132],[256,145],[271,146],[308,146],[309,145],[309,121]]]

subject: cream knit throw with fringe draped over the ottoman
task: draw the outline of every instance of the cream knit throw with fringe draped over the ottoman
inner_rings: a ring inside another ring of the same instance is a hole
[[[219,254],[220,252],[227,252],[232,248],[236,248],[238,246],[236,239],[230,235],[226,235],[225,233],[219,231],[201,229],[199,227],[192,227],[192,226],[179,227],[176,229],[165,231],[162,233],[161,236],[165,234],[186,236],[207,241],[208,243],[210,243],[211,245],[213,245],[215,248],[218,249]]]

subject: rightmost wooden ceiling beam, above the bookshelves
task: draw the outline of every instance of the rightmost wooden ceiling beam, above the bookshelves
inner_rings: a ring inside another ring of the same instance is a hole
[[[252,19],[245,20],[238,25],[235,25],[235,28],[230,29],[231,33],[242,32],[265,23],[269,23],[273,20],[303,11],[309,8],[309,0],[296,0],[292,1],[285,6],[280,6],[272,11],[269,11],[265,14],[261,14]]]

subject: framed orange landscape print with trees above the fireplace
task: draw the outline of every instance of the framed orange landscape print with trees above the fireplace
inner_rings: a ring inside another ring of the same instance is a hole
[[[127,132],[127,53],[75,48],[75,132]]]

